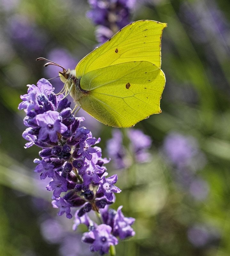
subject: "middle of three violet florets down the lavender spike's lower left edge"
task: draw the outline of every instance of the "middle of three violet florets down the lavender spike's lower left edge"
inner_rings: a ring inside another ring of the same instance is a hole
[[[60,176],[58,172],[54,172],[53,180],[47,185],[47,190],[53,191],[53,196],[56,198],[60,196],[61,192],[67,192],[67,180]]]

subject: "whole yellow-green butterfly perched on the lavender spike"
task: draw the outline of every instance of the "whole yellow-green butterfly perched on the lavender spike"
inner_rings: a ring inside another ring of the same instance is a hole
[[[135,21],[86,55],[75,70],[59,72],[64,91],[98,121],[131,127],[161,113],[165,86],[161,37],[166,23]],[[52,64],[52,63],[47,63]],[[55,63],[56,64],[56,63]]]

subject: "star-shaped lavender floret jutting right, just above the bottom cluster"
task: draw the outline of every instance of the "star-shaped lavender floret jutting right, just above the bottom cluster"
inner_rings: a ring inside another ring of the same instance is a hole
[[[103,193],[109,201],[113,200],[113,193],[120,193],[121,189],[114,186],[117,182],[117,175],[105,178],[103,177],[99,183],[97,193]]]

